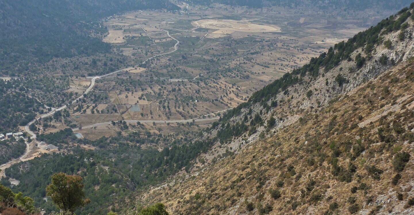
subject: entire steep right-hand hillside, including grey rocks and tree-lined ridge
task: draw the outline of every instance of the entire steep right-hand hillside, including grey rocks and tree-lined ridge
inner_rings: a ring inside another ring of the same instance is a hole
[[[414,5],[227,113],[189,174],[140,194],[173,214],[413,214]]]

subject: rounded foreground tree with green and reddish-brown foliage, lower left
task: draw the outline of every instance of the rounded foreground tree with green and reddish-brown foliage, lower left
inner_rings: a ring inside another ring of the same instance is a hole
[[[46,194],[63,214],[73,215],[75,210],[90,203],[89,198],[84,199],[82,177],[66,175],[63,172],[52,175],[52,182],[46,187]]]

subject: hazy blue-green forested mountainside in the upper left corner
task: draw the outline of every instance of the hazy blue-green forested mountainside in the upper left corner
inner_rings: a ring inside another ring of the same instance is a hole
[[[167,0],[0,0],[0,71],[31,58],[109,52],[91,24],[115,13],[137,9],[176,9]],[[29,57],[29,58],[28,58]],[[21,66],[21,65],[20,65]]]

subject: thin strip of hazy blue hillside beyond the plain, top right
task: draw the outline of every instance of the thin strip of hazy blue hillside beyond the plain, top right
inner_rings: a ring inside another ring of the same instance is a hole
[[[409,3],[410,0],[191,0],[197,4],[211,4],[223,3],[228,5],[242,5],[249,7],[264,7],[270,5],[284,6],[284,7],[298,7],[298,6],[316,6],[321,9],[366,9],[371,7],[379,7],[383,9],[400,9]]]

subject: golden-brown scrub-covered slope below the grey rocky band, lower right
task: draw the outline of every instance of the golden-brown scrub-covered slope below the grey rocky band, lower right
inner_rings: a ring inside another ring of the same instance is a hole
[[[413,70],[413,59],[395,66],[140,201],[164,202],[174,214],[410,214]]]

